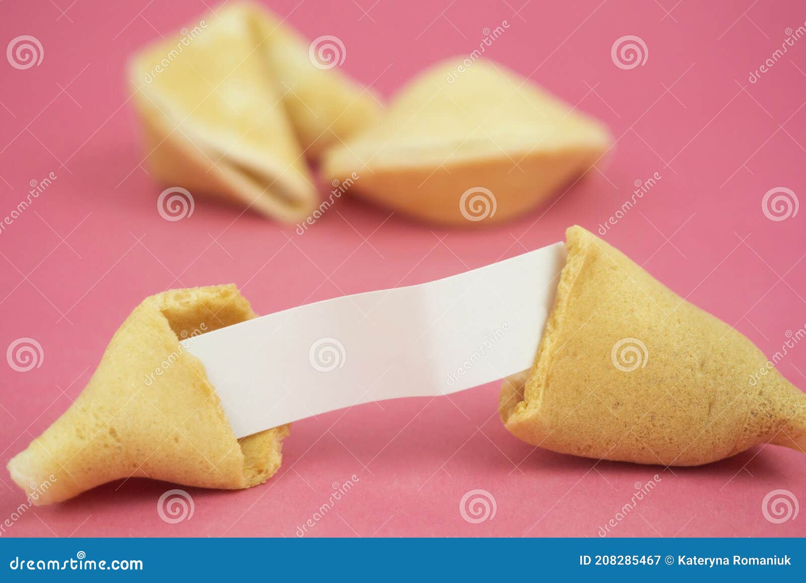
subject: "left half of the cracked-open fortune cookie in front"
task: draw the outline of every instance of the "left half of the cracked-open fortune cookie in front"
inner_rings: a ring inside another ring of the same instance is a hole
[[[146,298],[73,405],[10,460],[12,479],[38,505],[128,477],[223,489],[268,480],[289,426],[235,439],[204,365],[185,350],[197,334],[254,317],[235,285]]]

